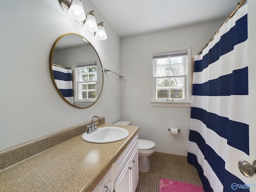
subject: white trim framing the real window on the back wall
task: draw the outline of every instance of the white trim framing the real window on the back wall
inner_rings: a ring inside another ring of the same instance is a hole
[[[177,100],[174,101],[154,101],[154,61],[153,61],[153,54],[158,54],[158,53],[164,53],[164,52],[175,52],[175,51],[182,51],[182,50],[187,50],[187,63],[186,63],[186,68],[187,68],[187,75],[185,79],[185,94],[186,94],[186,101],[185,102],[178,102]],[[150,104],[152,107],[182,107],[182,108],[190,108],[191,107],[191,47],[182,47],[182,48],[176,48],[176,49],[171,49],[171,50],[162,50],[162,51],[157,51],[157,52],[152,52],[151,53],[151,61],[152,65],[150,66],[151,68],[151,98],[150,98]]]

